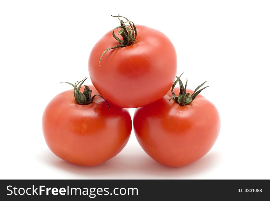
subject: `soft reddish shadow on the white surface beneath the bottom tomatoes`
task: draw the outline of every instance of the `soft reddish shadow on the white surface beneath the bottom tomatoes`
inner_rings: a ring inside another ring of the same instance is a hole
[[[49,150],[41,153],[38,158],[47,165],[82,176],[84,179],[182,179],[213,170],[220,162],[221,154],[210,151],[203,158],[182,168],[161,165],[138,147],[129,147],[116,157],[94,167],[68,163]]]

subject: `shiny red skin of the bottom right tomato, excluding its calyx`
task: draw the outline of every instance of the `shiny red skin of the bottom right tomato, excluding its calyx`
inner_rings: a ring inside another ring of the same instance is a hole
[[[179,88],[173,90],[179,93]],[[187,92],[193,93],[187,89]],[[185,106],[178,105],[171,91],[163,99],[138,108],[133,126],[145,152],[157,162],[182,167],[203,157],[214,145],[220,130],[216,107],[198,95]]]

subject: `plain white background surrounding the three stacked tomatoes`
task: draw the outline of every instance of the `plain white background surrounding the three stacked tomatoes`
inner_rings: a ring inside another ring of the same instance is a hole
[[[0,178],[270,179],[269,10],[269,1],[1,1]],[[165,33],[188,88],[208,80],[202,95],[218,108],[221,131],[202,159],[160,165],[133,131],[120,154],[96,167],[69,164],[48,149],[43,110],[70,89],[61,81],[89,76],[91,48],[119,24],[109,14]]]

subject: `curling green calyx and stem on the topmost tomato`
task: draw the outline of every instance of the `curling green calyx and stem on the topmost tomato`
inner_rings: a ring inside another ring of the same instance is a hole
[[[126,17],[123,17],[123,16],[114,16],[114,15],[110,15],[112,17],[118,17],[118,20],[120,21],[120,26],[116,27],[113,29],[113,37],[120,43],[119,45],[115,45],[114,47],[110,47],[110,48],[107,48],[106,50],[104,50],[104,52],[102,53],[100,59],[99,59],[99,66],[100,66],[100,62],[101,62],[101,58],[102,56],[110,49],[116,49],[116,48],[121,48],[121,47],[126,47],[126,46],[129,46],[129,45],[133,45],[135,40],[136,40],[136,37],[137,37],[137,29],[136,29],[136,26],[134,25],[133,21],[129,21]],[[123,20],[120,20],[119,17],[123,17],[125,18],[127,21],[124,22]],[[125,25],[125,23],[129,23],[129,25]],[[118,31],[118,35],[119,36],[122,36],[123,40],[121,40],[120,38],[118,38],[114,31],[116,29],[119,29],[121,28],[119,31]],[[131,30],[130,30],[131,29]],[[132,33],[131,33],[132,31]]]

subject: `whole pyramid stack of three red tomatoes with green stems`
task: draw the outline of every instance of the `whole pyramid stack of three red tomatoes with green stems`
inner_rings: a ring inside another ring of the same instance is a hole
[[[132,121],[125,108],[138,108],[133,127],[150,157],[171,167],[203,157],[220,129],[216,107],[199,94],[204,83],[195,91],[183,86],[176,77],[175,48],[163,33],[113,17],[120,26],[106,33],[89,56],[94,86],[83,85],[86,78],[67,82],[74,89],[56,95],[45,108],[48,147],[74,164],[101,164],[129,139]]]

